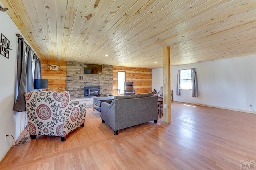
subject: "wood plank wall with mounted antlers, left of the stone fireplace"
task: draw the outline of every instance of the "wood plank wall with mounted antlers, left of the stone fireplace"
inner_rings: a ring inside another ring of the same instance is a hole
[[[58,65],[60,68],[57,71],[50,70],[49,66],[46,68],[46,63],[51,65]],[[42,64],[42,78],[48,79],[48,90],[62,92],[67,89],[67,62],[57,60],[41,59]]]

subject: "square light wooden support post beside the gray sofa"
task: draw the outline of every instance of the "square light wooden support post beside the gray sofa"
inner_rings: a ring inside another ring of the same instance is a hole
[[[163,112],[164,121],[171,123],[171,62],[170,47],[163,48]]]

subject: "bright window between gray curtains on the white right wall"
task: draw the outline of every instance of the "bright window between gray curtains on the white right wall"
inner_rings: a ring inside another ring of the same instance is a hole
[[[192,89],[191,69],[180,70],[180,89]]]

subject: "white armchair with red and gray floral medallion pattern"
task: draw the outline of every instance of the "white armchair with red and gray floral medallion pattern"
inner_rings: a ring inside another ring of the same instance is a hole
[[[77,127],[83,127],[86,104],[74,106],[68,91],[32,91],[25,94],[31,139],[36,135],[60,136],[61,141]]]

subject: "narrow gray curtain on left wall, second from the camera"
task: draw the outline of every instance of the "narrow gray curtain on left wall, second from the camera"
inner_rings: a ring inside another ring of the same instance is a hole
[[[31,92],[34,90],[33,84],[33,73],[32,73],[32,51],[30,47],[26,47],[27,51],[27,91]]]

